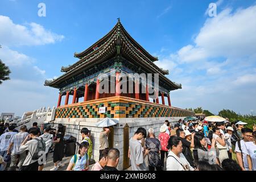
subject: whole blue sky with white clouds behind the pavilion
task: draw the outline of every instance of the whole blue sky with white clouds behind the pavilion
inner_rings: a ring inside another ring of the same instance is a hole
[[[46,17],[38,4],[46,4]],[[0,2],[0,59],[11,80],[0,86],[0,113],[57,104],[58,90],[44,80],[108,33],[121,18],[126,30],[169,69],[183,89],[172,105],[218,113],[256,111],[256,1],[29,1]]]

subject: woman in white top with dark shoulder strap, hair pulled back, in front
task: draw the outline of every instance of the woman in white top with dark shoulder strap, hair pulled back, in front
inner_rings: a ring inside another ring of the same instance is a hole
[[[188,160],[182,154],[182,143],[179,137],[172,136],[168,140],[168,147],[171,151],[166,161],[167,171],[194,171]]]

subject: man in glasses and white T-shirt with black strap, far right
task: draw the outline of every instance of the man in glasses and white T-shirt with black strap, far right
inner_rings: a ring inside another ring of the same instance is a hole
[[[242,132],[243,139],[237,141],[236,149],[235,149],[237,154],[237,161],[243,171],[249,171],[252,169],[252,164],[251,164],[250,156],[247,155],[248,152],[247,152],[245,143],[251,142],[253,140],[253,130],[248,128],[243,128],[241,132]]]

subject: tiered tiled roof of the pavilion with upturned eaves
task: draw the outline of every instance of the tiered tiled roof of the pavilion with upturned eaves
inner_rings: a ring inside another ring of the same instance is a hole
[[[119,19],[114,28],[103,38],[85,51],[75,53],[75,57],[79,58],[79,61],[68,67],[61,67],[61,72],[65,72],[64,75],[55,80],[46,81],[45,85],[56,87],[60,82],[76,76],[97,64],[101,64],[118,54],[141,65],[141,67],[146,68],[150,73],[159,73],[159,78],[165,80],[173,89],[181,88],[181,85],[175,84],[164,76],[168,75],[168,70],[159,68],[154,63],[158,58],[150,55],[150,53],[140,46],[125,30]]]

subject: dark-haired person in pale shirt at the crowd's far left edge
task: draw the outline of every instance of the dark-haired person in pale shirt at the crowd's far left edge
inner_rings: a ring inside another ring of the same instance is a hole
[[[15,126],[11,125],[8,127],[8,129],[9,129],[9,132],[6,132],[0,136],[0,155],[2,155],[3,158],[5,158],[5,156],[7,155],[7,151],[8,151],[11,139],[13,138],[14,135],[17,134],[16,132],[13,132],[13,130],[15,129]]]

